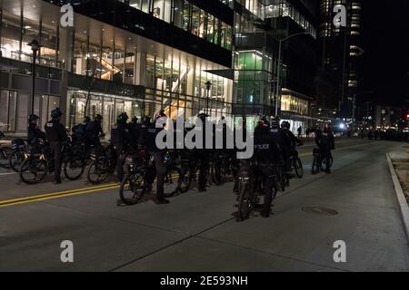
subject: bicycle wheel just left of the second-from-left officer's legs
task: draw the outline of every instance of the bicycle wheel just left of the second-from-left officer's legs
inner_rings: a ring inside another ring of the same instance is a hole
[[[45,160],[24,160],[20,167],[20,179],[26,184],[37,184],[45,179],[48,164]]]

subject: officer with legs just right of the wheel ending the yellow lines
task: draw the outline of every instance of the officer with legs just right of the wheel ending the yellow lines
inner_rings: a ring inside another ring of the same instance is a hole
[[[157,121],[160,118],[166,118],[164,111],[159,111],[155,115],[155,123],[149,123],[145,129],[145,147],[151,157],[153,157],[153,168],[149,171],[148,182],[152,185],[156,179],[156,204],[168,204],[169,200],[165,199],[164,183],[165,183],[165,150],[158,149],[156,146],[156,136],[160,131],[164,130],[163,126],[158,126]],[[155,172],[154,172],[155,171]]]

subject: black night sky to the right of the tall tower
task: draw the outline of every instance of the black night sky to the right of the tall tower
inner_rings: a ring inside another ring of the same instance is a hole
[[[379,104],[409,101],[409,0],[363,4],[362,86]]]

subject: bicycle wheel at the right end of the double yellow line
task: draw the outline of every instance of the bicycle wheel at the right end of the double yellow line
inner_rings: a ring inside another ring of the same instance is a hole
[[[126,174],[119,188],[119,198],[127,206],[137,204],[145,195],[145,178],[142,174]]]

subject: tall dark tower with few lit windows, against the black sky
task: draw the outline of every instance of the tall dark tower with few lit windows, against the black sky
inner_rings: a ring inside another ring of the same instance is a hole
[[[323,82],[332,82],[336,88],[328,96],[327,105],[338,102],[339,116],[353,117],[354,94],[359,88],[360,56],[362,48],[361,0],[321,0],[320,32],[321,73]],[[345,5],[346,27],[334,25],[334,5]]]

